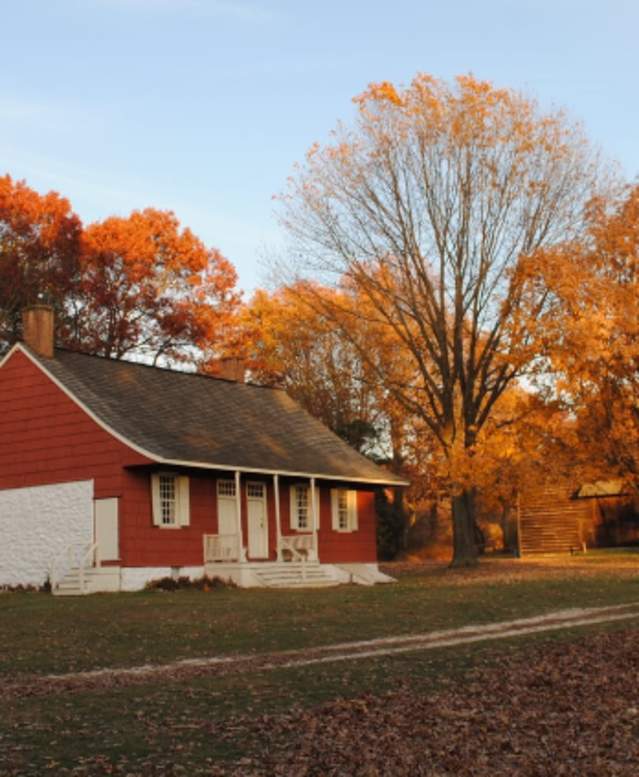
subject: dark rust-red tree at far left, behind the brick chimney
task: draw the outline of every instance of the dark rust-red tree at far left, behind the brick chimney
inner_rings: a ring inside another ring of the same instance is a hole
[[[77,282],[82,225],[68,200],[0,177],[0,353],[21,331],[21,311],[45,301],[64,315]]]

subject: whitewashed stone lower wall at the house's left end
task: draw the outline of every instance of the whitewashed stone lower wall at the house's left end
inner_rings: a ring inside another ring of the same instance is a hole
[[[42,585],[71,544],[93,540],[93,481],[0,491],[0,585]]]

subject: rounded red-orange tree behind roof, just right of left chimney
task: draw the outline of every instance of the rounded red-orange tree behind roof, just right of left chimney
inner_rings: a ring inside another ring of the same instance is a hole
[[[69,347],[198,364],[239,304],[233,266],[175,215],[148,208],[89,225],[63,332]]]

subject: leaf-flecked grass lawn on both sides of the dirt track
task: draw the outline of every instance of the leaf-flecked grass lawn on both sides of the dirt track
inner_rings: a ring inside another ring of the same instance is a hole
[[[2,678],[33,673],[304,648],[639,601],[639,556],[632,555],[610,563],[495,559],[473,572],[433,565],[419,573],[408,567],[397,572],[396,584],[375,588],[78,599],[1,595],[0,691]],[[11,698],[0,702],[0,774],[221,774],[213,764],[259,745],[236,724],[238,716],[379,695],[406,681],[415,692],[433,693],[505,654],[580,639],[586,631],[627,630],[634,623],[342,664],[247,669],[186,681],[156,677],[131,687]]]

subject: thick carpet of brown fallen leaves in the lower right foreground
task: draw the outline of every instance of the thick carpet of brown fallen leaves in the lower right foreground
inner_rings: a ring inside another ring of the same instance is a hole
[[[629,629],[519,650],[461,680],[448,680],[431,694],[411,688],[408,677],[390,694],[285,714],[183,720],[178,727],[167,721],[166,737],[181,743],[168,760],[166,752],[140,760],[122,757],[117,763],[87,755],[74,768],[57,765],[54,773],[636,777],[638,636]],[[180,756],[182,747],[188,753],[194,737],[228,742],[229,752],[240,743],[244,753],[235,762],[196,764]],[[0,764],[1,756],[0,742]]]

